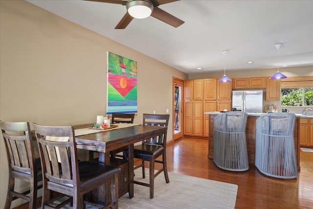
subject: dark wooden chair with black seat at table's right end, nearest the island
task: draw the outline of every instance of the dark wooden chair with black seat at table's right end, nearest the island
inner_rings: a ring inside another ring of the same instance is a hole
[[[143,125],[156,125],[156,126],[168,126],[170,115],[154,115],[143,114]],[[166,183],[170,183],[167,174],[166,166],[166,135],[167,129],[163,134],[148,138],[142,141],[141,144],[134,146],[134,158],[141,159],[141,164],[135,166],[134,169],[142,167],[142,178],[145,178],[145,161],[149,161],[149,184],[134,181],[135,184],[150,187],[150,198],[154,195],[154,180],[158,174],[164,172]],[[162,156],[162,160],[157,160],[159,156]],[[155,173],[155,163],[161,163],[162,168]]]

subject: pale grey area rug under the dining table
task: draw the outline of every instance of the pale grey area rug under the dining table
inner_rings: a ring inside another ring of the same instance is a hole
[[[142,180],[141,169],[135,170],[134,180]],[[146,171],[148,183],[149,170]],[[119,209],[233,209],[236,204],[238,186],[224,182],[168,173],[155,179],[154,198],[149,198],[149,187],[134,184],[134,197],[128,193],[118,199]],[[67,209],[67,207],[64,207]],[[87,206],[86,209],[95,209]]]

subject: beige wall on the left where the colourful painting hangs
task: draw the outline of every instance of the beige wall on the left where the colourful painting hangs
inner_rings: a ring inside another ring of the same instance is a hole
[[[105,115],[107,51],[137,61],[136,123],[154,110],[172,114],[173,76],[186,80],[187,74],[26,1],[0,0],[0,9],[1,120],[75,125]],[[169,124],[171,140],[172,117]],[[6,159],[1,139],[0,208]]]

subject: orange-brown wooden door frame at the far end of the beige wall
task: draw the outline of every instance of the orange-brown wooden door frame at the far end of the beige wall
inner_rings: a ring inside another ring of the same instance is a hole
[[[180,121],[179,121],[179,125],[180,125],[180,132],[178,134],[175,134],[175,83],[179,84],[178,86],[181,87],[181,95],[180,95]],[[180,139],[183,137],[183,93],[184,91],[184,81],[182,79],[173,77],[173,141]]]

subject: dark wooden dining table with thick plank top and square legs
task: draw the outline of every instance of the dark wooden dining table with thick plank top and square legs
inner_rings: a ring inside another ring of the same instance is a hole
[[[92,124],[75,125],[74,129],[88,128]],[[93,134],[75,136],[76,147],[99,152],[99,162],[110,164],[110,151],[128,146],[129,159],[129,197],[134,197],[134,143],[147,138],[156,137],[167,132],[167,127],[151,125],[135,125],[132,127],[107,130]],[[100,199],[106,194],[101,189]]]

